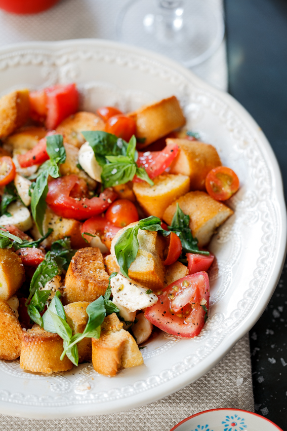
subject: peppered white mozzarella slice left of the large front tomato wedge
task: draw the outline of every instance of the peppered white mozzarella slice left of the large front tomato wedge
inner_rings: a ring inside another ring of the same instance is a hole
[[[154,293],[146,293],[147,288],[119,273],[111,278],[111,291],[116,302],[130,311],[141,310],[157,302]]]

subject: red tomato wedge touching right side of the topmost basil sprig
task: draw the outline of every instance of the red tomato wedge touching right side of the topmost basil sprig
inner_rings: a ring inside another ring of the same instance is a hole
[[[164,172],[177,156],[179,147],[176,143],[170,143],[161,151],[146,151],[145,153],[139,152],[137,165],[144,167],[148,176],[152,179]],[[135,176],[133,179],[135,183],[140,183],[143,180]]]

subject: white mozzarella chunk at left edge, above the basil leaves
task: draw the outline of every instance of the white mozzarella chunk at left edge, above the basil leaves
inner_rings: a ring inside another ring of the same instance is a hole
[[[11,203],[7,207],[7,212],[10,212],[11,217],[7,215],[1,215],[0,225],[14,225],[21,231],[25,232],[31,229],[33,222],[30,211],[26,208],[22,202],[16,201]]]

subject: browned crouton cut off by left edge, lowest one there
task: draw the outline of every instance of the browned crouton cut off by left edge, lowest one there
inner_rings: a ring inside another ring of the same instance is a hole
[[[13,361],[20,356],[22,328],[14,311],[0,299],[0,359]]]

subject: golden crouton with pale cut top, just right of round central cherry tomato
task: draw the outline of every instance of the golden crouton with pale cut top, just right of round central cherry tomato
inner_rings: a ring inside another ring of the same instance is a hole
[[[189,192],[189,176],[162,174],[148,183],[134,183],[134,193],[147,215],[162,219],[165,209],[180,196]]]

